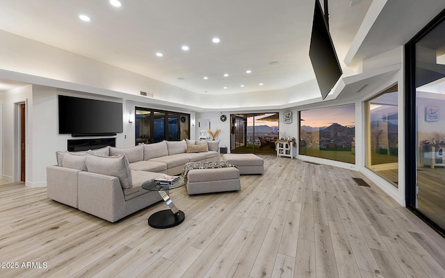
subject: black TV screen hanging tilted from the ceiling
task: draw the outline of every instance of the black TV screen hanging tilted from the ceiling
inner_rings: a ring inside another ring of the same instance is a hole
[[[318,0],[315,1],[309,58],[314,68],[321,97],[325,99],[343,72]]]

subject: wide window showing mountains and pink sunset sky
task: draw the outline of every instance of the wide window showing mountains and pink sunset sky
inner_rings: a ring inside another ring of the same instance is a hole
[[[355,105],[301,111],[300,154],[355,163]]]

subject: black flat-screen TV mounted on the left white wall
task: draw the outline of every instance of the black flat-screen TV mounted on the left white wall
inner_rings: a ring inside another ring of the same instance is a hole
[[[122,103],[58,96],[58,133],[72,136],[123,132]]]

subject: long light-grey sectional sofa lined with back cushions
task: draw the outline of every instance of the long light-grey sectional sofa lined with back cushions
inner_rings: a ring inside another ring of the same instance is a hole
[[[47,196],[109,222],[162,200],[142,183],[160,173],[177,175],[188,162],[219,161],[218,141],[162,141],[129,148],[57,152],[47,166]]]

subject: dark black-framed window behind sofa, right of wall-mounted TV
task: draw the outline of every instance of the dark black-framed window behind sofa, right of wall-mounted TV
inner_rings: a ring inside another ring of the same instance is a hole
[[[136,107],[136,145],[190,138],[190,115]]]

